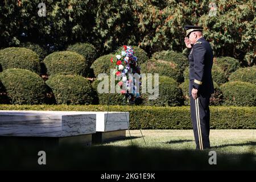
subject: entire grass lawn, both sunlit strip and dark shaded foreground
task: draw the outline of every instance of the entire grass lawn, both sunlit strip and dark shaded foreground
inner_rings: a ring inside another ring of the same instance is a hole
[[[29,170],[256,170],[256,131],[211,130],[216,165],[209,164],[209,150],[195,150],[192,130],[131,130],[123,140],[90,147],[34,144],[0,145],[0,169]],[[38,151],[45,151],[47,165],[38,165]]]

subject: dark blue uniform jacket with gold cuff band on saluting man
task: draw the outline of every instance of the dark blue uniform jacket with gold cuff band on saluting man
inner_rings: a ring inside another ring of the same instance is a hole
[[[192,88],[196,88],[203,97],[213,93],[212,65],[213,52],[209,42],[200,38],[192,46],[189,55],[189,96]]]

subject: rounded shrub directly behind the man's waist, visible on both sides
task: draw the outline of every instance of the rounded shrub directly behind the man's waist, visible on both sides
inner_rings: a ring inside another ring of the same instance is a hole
[[[220,86],[216,82],[213,82],[214,85],[214,93],[210,97],[210,105],[211,106],[218,106],[221,105],[223,102],[222,93],[220,90]],[[183,93],[184,98],[184,105],[188,106],[190,105],[190,98],[189,98],[189,80],[185,80],[185,82],[180,84],[180,88]]]

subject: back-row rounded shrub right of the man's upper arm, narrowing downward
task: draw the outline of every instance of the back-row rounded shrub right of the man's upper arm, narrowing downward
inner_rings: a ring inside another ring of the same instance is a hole
[[[218,65],[225,72],[226,76],[240,68],[240,63],[233,57],[217,57],[214,64]]]

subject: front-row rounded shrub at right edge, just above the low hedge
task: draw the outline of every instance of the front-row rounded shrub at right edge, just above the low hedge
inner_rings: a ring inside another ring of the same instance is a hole
[[[225,105],[256,106],[256,85],[249,82],[230,81],[220,86]]]

